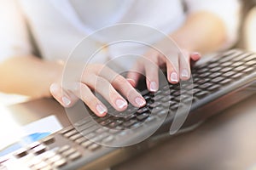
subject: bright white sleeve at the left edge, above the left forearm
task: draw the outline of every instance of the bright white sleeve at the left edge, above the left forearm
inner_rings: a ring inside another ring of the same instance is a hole
[[[26,24],[15,0],[0,0],[0,61],[32,53]]]

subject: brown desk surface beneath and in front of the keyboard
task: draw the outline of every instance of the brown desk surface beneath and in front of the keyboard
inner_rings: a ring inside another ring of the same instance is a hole
[[[256,165],[256,95],[183,133],[125,161],[113,170],[248,169]],[[54,100],[39,99],[8,108],[20,125],[55,115],[63,126],[67,116]]]

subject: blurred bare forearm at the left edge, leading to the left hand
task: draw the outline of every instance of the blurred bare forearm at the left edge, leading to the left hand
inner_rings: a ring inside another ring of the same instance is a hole
[[[0,63],[0,91],[49,97],[49,86],[61,76],[62,65],[34,56],[12,57]]]

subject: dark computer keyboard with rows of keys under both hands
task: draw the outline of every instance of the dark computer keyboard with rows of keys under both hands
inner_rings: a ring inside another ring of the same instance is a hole
[[[195,65],[189,81],[161,85],[154,94],[143,90],[143,108],[129,105],[119,112],[109,106],[104,117],[89,111],[72,126],[1,157],[0,169],[112,167],[147,150],[151,139],[168,134],[175,117],[186,116],[182,132],[254,94],[255,70],[256,54],[238,49],[216,54]]]

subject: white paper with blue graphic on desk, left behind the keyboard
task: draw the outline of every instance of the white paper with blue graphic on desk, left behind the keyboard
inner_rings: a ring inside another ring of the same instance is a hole
[[[12,151],[18,150],[26,144],[31,144],[34,141],[43,139],[49,136],[51,133],[55,133],[61,130],[61,123],[55,116],[47,116],[36,122],[27,124],[24,127],[20,127],[17,138],[12,138],[9,144],[0,144],[0,156],[9,154]],[[10,134],[11,136],[12,134]]]

